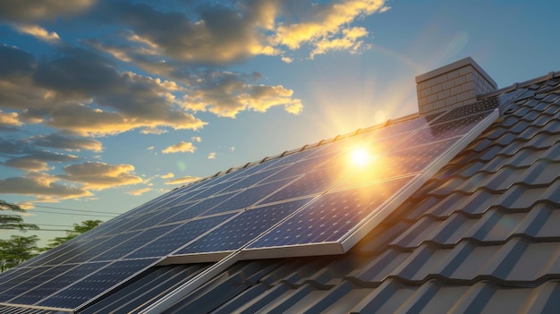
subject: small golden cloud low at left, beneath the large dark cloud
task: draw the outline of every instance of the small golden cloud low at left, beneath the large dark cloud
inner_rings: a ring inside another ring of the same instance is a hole
[[[87,190],[106,190],[116,186],[137,184],[140,176],[133,174],[133,165],[108,165],[106,163],[83,163],[64,166],[66,174],[58,178],[69,182],[79,182]]]

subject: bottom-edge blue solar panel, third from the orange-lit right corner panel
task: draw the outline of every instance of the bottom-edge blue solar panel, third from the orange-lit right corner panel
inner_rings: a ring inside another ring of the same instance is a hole
[[[192,220],[182,224],[172,232],[166,233],[164,237],[161,237],[156,242],[149,242],[147,245],[140,248],[140,250],[136,250],[132,254],[127,255],[126,259],[166,256],[196,239],[201,234],[225,222],[225,220],[231,216],[233,216],[233,214],[210,216],[208,218]]]

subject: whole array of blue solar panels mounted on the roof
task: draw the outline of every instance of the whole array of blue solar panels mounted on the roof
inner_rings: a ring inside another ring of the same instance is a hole
[[[170,191],[0,274],[0,303],[79,310],[174,259],[344,253],[496,116],[494,106],[419,116]],[[348,162],[356,148],[369,165]]]

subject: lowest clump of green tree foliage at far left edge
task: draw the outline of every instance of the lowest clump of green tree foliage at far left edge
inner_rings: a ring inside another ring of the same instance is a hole
[[[12,235],[10,240],[0,240],[0,272],[38,255],[38,240],[37,235]]]

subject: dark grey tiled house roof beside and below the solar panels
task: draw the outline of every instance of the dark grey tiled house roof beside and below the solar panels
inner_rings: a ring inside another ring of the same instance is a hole
[[[242,260],[190,291],[214,264],[150,267],[78,312],[141,312],[177,291],[165,313],[556,312],[558,74],[479,96],[500,118],[345,254]]]

